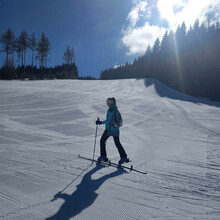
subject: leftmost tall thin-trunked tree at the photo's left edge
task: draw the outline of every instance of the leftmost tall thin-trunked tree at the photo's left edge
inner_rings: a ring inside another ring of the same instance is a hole
[[[6,67],[13,65],[14,51],[15,51],[15,35],[11,29],[8,29],[1,37],[1,51],[6,53]]]

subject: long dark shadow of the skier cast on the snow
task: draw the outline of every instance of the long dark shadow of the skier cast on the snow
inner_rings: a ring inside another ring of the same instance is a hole
[[[58,193],[54,196],[54,200],[62,198],[65,200],[58,212],[46,220],[69,220],[82,212],[85,208],[88,208],[98,197],[95,192],[106,180],[119,176],[125,173],[124,170],[118,169],[113,173],[102,176],[99,179],[92,179],[91,176],[96,171],[103,168],[103,165],[97,164],[92,170],[85,174],[81,183],[77,185],[76,191],[72,195],[66,193]]]

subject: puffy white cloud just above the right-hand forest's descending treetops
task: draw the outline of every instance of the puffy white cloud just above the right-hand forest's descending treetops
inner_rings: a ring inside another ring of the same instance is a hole
[[[148,44],[153,45],[157,37],[162,38],[165,28],[150,25],[128,29],[124,32],[122,43],[129,49],[127,55],[144,53]]]

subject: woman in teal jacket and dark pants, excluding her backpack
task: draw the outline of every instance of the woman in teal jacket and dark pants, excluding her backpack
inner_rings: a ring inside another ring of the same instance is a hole
[[[108,98],[106,104],[109,107],[106,115],[106,120],[100,121],[98,119],[96,121],[96,125],[105,124],[105,131],[100,139],[100,157],[97,160],[99,162],[108,161],[107,153],[106,153],[106,141],[110,136],[112,136],[121,157],[121,159],[118,161],[118,164],[121,165],[123,163],[129,162],[129,159],[119,140],[119,133],[120,133],[119,126],[115,126],[115,124],[113,123],[114,116],[118,108],[116,106],[116,99],[114,97]]]

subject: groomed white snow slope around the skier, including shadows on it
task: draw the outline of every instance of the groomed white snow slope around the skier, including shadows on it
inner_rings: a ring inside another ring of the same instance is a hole
[[[146,175],[77,158],[112,96]],[[0,219],[220,219],[220,103],[152,79],[0,81]]]

